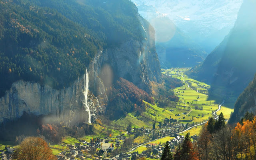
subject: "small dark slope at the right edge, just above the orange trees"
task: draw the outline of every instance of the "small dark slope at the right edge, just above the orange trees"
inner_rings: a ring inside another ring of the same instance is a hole
[[[230,124],[240,121],[246,112],[256,113],[256,75],[236,100],[234,112],[228,121]]]

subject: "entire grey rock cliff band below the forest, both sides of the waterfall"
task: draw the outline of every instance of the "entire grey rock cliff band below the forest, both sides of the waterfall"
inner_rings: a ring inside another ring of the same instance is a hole
[[[154,29],[138,15],[144,40],[127,40],[119,46],[99,50],[88,68],[88,106],[92,122],[108,104],[106,89],[115,78],[129,80],[151,94],[150,81],[161,82],[160,63],[155,51]],[[88,122],[84,114],[84,78],[62,90],[44,84],[20,80],[0,98],[0,122],[20,117],[23,112],[52,115],[66,125]]]

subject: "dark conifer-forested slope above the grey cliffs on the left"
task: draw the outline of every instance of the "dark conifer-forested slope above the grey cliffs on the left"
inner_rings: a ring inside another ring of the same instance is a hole
[[[98,50],[144,39],[128,0],[1,0],[0,13],[0,96],[21,79],[70,86]]]

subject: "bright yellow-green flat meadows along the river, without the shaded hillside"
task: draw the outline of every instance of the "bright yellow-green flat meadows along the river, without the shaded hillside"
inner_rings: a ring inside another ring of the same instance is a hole
[[[194,120],[192,122],[200,123],[200,122],[208,120],[209,117],[213,116],[212,111],[215,111],[218,109],[219,103],[217,103],[214,100],[208,100],[208,95],[206,95],[206,94],[202,94],[202,93],[197,92],[196,90],[192,90],[191,88],[188,88],[188,84],[186,83],[186,81],[190,82],[192,84],[192,87],[197,88],[197,90],[204,89],[204,88],[201,88],[202,86],[206,87],[206,88],[210,88],[210,85],[205,84],[203,82],[199,82],[197,80],[193,80],[191,78],[188,78],[184,74],[184,72],[186,70],[188,70],[188,68],[171,68],[169,70],[164,70],[164,72],[167,73],[167,72],[171,71],[169,74],[172,74],[172,77],[178,78],[182,81],[184,80],[184,85],[182,87],[178,87],[173,90],[174,94],[176,96],[180,97],[181,102],[178,102],[178,105],[193,107],[193,104],[196,104],[196,105],[203,107],[203,110],[196,110],[195,108],[193,108],[193,110],[188,114],[190,116],[188,116],[188,115],[184,116],[184,119],[180,118],[180,120],[190,120],[190,119],[192,119],[192,116],[195,116]],[[176,73],[176,71],[178,71],[178,74]],[[184,93],[182,93],[183,91],[184,91]],[[200,97],[199,99],[197,99],[198,96]],[[196,100],[196,101],[194,101],[194,100]],[[189,104],[187,102],[189,102]],[[217,112],[217,114],[220,114],[220,112],[223,112],[225,118],[228,119],[230,117],[231,111],[232,111],[232,109],[222,106],[221,110],[219,112]],[[198,116],[199,114],[200,114],[200,116]],[[204,117],[202,117],[202,114],[204,114]],[[182,116],[183,115],[181,115],[181,117]],[[176,117],[174,117],[174,118],[176,118]],[[192,122],[190,122],[190,123],[192,123]],[[198,134],[200,132],[201,127],[202,126],[197,126],[197,128],[192,128],[192,129],[188,130],[188,132],[192,131],[192,133]],[[187,132],[185,132],[184,134],[186,134],[186,133]]]

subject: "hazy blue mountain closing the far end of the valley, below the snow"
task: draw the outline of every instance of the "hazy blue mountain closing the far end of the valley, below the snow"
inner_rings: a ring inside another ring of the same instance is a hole
[[[204,49],[184,34],[168,16],[159,13],[153,6],[140,4],[137,7],[156,31],[156,52],[162,68],[192,67],[206,58]]]

